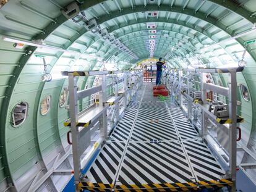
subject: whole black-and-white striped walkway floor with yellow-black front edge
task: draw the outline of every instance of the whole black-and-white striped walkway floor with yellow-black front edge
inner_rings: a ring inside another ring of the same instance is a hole
[[[199,191],[231,185],[173,102],[143,83],[109,136],[82,188],[89,191]]]

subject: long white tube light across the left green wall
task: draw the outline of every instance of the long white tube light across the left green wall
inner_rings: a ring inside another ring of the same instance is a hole
[[[87,57],[92,57],[92,58],[101,59],[101,60],[103,59],[102,57],[91,56],[90,54],[85,54],[85,53],[72,51],[72,50],[67,50],[67,49],[56,48],[54,46],[50,46],[50,45],[46,45],[46,44],[40,44],[40,43],[36,43],[36,42],[33,42],[33,41],[19,40],[19,39],[11,38],[11,37],[8,37],[8,36],[2,36],[2,40],[8,41],[8,42],[11,42],[11,43],[22,43],[22,44],[33,46],[33,47],[36,47],[36,48],[46,48],[46,49],[52,49],[54,51],[68,52],[70,54],[75,54],[75,55],[79,55],[79,56],[87,56]]]

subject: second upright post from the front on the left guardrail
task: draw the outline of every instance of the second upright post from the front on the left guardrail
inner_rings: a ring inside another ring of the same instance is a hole
[[[106,104],[106,75],[100,75],[100,84],[102,90],[99,94],[99,105],[100,107],[105,107]],[[107,122],[107,113],[106,110],[103,112],[100,119],[100,137],[106,138],[108,136],[108,122]]]

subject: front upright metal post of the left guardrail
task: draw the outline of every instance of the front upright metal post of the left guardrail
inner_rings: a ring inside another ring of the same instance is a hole
[[[77,80],[73,73],[69,73],[69,115],[70,115],[70,129],[72,134],[72,152],[74,163],[74,179],[75,191],[78,190],[80,182],[80,154],[79,154],[79,130],[76,127],[77,122]]]

